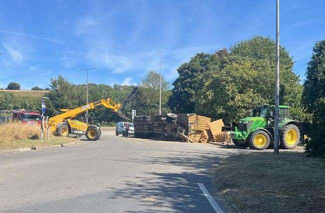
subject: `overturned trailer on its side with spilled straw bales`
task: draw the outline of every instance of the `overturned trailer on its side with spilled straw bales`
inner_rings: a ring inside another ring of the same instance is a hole
[[[134,137],[207,142],[210,121],[211,118],[195,113],[136,116],[133,121]]]

